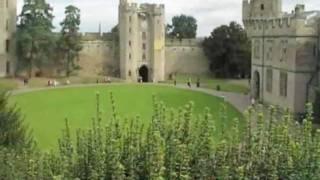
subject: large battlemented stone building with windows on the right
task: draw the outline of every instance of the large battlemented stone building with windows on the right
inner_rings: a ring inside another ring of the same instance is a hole
[[[252,40],[252,96],[303,112],[319,82],[319,11],[281,0],[243,0],[243,23]]]

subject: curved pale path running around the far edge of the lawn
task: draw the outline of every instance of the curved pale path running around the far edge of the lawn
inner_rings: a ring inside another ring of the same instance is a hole
[[[125,83],[113,83],[112,85],[125,85]],[[203,92],[212,96],[217,96],[224,98],[225,101],[232,104],[235,108],[237,108],[240,112],[244,112],[250,106],[250,98],[248,95],[239,94],[239,93],[232,93],[232,92],[221,92],[215,91],[212,89],[205,89],[205,88],[189,88],[186,85],[179,84],[177,86],[169,85],[169,84],[150,84],[150,85],[159,85],[159,86],[168,86],[168,87],[176,87],[180,89],[189,89],[192,91]],[[43,88],[25,88],[19,90],[11,91],[12,95],[18,95],[28,92],[35,92],[35,91],[42,91],[48,89],[63,89],[63,88],[72,88],[72,87],[92,87],[92,86],[108,86],[107,84],[80,84],[80,85],[69,85],[69,86],[58,86],[58,87],[43,87]]]

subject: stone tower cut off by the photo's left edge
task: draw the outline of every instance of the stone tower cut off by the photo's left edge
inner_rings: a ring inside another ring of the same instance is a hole
[[[0,0],[0,77],[14,75],[16,0]]]

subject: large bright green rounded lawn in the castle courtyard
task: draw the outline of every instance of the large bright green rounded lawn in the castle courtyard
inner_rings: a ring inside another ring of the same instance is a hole
[[[223,103],[221,98],[164,86],[111,85],[52,89],[16,95],[11,100],[21,108],[40,148],[48,150],[56,146],[57,138],[60,137],[61,130],[64,128],[65,118],[69,119],[73,132],[78,128],[90,127],[91,119],[96,112],[97,92],[101,96],[103,117],[110,116],[109,96],[110,92],[113,92],[121,117],[140,115],[145,122],[148,122],[152,115],[152,96],[156,95],[168,107],[181,107],[193,101],[195,114],[202,113],[205,107],[209,107],[217,119],[216,126],[221,125],[218,120],[219,109]],[[229,104],[227,104],[227,112],[229,117],[242,117],[241,113]],[[106,119],[104,118],[104,121]],[[228,126],[231,121],[228,120],[225,123]]]

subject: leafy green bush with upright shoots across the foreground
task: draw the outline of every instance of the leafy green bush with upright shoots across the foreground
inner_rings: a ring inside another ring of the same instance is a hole
[[[97,97],[99,99],[99,96]],[[98,100],[92,128],[70,127],[59,140],[59,153],[0,152],[4,179],[319,179],[320,131],[312,130],[312,108],[303,124],[275,109],[264,116],[249,109],[247,127],[234,120],[224,133],[208,110],[194,116],[193,104],[178,111],[154,101],[149,126],[139,117],[121,119],[111,96],[113,114],[101,124]],[[222,139],[216,141],[217,132]]]

